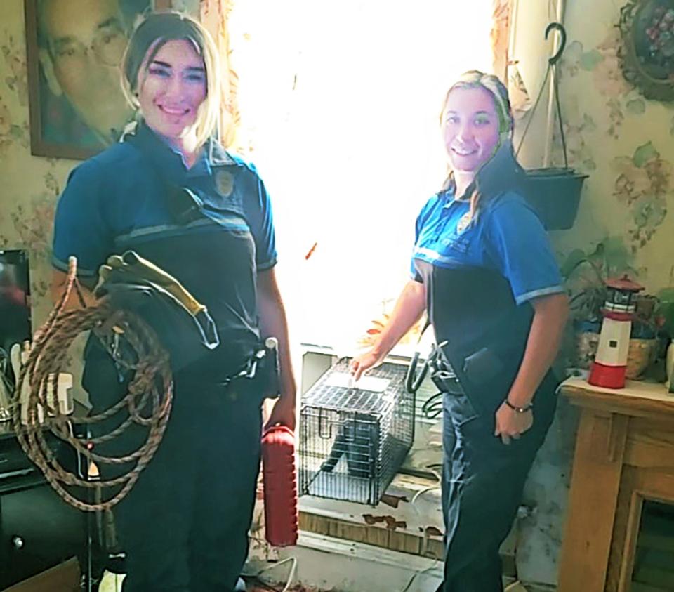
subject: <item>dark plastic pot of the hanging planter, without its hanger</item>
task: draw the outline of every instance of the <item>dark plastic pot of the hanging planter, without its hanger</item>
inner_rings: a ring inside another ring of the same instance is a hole
[[[568,230],[574,225],[587,175],[574,169],[525,171],[520,190],[534,207],[547,230]]]

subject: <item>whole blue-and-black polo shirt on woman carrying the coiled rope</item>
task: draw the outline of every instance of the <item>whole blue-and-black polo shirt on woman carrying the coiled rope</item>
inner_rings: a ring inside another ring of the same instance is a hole
[[[186,203],[190,216],[177,218]],[[256,169],[213,140],[187,169],[140,124],[70,174],[56,209],[53,265],[67,270],[74,255],[83,279],[95,279],[108,256],[128,249],[208,307],[220,346],[200,368],[239,368],[259,340],[256,273],[276,263],[270,199]],[[180,350],[180,335],[167,328],[161,337]]]

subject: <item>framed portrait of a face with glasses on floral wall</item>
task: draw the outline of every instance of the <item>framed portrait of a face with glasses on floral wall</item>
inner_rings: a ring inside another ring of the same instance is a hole
[[[170,0],[24,0],[35,156],[86,159],[131,117],[119,65],[139,15]]]

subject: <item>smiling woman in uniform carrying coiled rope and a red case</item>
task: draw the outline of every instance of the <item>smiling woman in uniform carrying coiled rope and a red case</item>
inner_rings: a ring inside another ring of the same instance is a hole
[[[108,256],[133,249],[206,305],[220,340],[197,353],[178,327],[155,325],[171,355],[173,409],[157,454],[114,508],[123,589],[244,589],[260,404],[270,393],[234,377],[267,336],[279,341],[281,395],[269,425],[295,427],[270,199],[256,169],[216,139],[220,65],[199,22],[147,15],[128,42],[122,75],[138,123],[70,175],[55,217],[55,291],[70,255],[91,285]],[[105,409],[125,392],[124,376],[95,339],[85,362],[83,384],[94,409]]]

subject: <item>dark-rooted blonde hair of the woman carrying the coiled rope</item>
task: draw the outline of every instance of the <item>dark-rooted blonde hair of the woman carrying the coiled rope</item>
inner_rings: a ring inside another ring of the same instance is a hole
[[[194,46],[206,69],[206,99],[194,121],[197,146],[201,146],[218,129],[223,86],[218,49],[211,34],[197,20],[171,11],[150,13],[141,20],[133,29],[121,59],[121,88],[129,105],[138,111],[138,73],[141,68],[147,71],[154,56],[168,41],[178,39]]]

